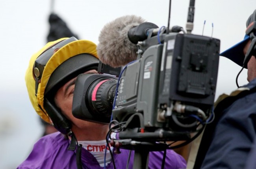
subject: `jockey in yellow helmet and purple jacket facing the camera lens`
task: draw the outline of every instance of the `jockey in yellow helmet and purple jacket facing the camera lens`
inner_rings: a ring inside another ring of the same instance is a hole
[[[59,132],[39,139],[19,169],[102,169],[105,161],[107,169],[113,168],[109,151],[105,159],[108,125],[84,121],[72,115],[77,76],[97,73],[97,67],[96,45],[74,37],[48,42],[32,56],[25,77],[30,101],[37,114]],[[111,147],[111,151],[114,149]],[[116,168],[125,168],[128,157],[129,150],[121,149],[121,154],[113,154]],[[129,161],[130,169],[133,157],[134,152]],[[162,158],[163,152],[150,152],[149,168],[161,168]],[[167,150],[165,168],[186,168],[186,162],[179,154]]]

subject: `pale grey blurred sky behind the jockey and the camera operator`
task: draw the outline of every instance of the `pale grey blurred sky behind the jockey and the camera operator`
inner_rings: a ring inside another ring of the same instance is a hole
[[[0,168],[15,168],[27,157],[42,128],[30,104],[24,75],[33,53],[46,43],[50,0],[0,0]],[[80,39],[98,44],[103,26],[123,15],[138,15],[167,26],[169,0],[55,0],[58,14]],[[189,0],[172,0],[171,26],[185,28]],[[255,0],[196,0],[193,34],[221,40],[221,52],[245,35],[245,22],[256,8]],[[236,89],[241,68],[221,57],[216,97]],[[247,83],[247,70],[239,85]]]

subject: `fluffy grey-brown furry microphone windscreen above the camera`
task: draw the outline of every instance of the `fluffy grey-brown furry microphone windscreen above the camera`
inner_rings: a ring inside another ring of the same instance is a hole
[[[137,59],[137,46],[130,42],[128,31],[146,22],[135,15],[126,15],[106,24],[98,37],[97,53],[100,61],[116,68]]]

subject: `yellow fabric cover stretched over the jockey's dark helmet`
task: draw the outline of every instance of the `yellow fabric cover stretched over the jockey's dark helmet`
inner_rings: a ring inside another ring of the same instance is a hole
[[[87,53],[98,59],[96,52],[96,44],[89,40],[74,40],[72,42],[69,42],[68,44],[65,44],[58,50],[54,50],[52,56],[50,57],[50,59],[44,67],[43,73],[41,75],[41,80],[38,83],[38,88],[35,95],[36,80],[33,71],[35,60],[46,50],[48,50],[49,48],[54,48],[56,44],[66,39],[69,38],[61,38],[53,42],[48,42],[41,50],[32,55],[28,68],[26,70],[25,81],[30,101],[37,114],[48,123],[52,122],[44,108],[44,97],[46,86],[54,70],[56,70],[63,62],[67,61],[71,57],[80,55],[82,53]],[[82,56],[88,57],[88,55]],[[87,64],[85,63],[85,65]]]

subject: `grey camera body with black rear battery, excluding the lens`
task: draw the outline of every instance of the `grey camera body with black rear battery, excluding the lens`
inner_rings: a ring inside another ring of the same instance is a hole
[[[120,78],[122,88],[118,89],[113,119],[126,121],[131,114],[141,113],[143,126],[150,131],[196,131],[198,121],[190,117],[193,112],[179,112],[175,105],[197,107],[209,117],[215,97],[220,40],[169,33],[140,44],[139,59],[128,65]]]

